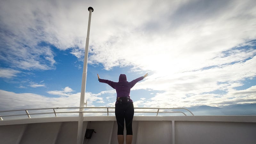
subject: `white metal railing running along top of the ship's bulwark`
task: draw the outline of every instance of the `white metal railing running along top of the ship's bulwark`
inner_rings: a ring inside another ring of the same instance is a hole
[[[88,109],[88,111],[79,111],[79,108],[84,108]],[[41,112],[41,113],[29,113],[28,111],[31,110],[49,110],[52,109],[53,112]],[[77,111],[56,111],[56,109],[78,109]],[[107,109],[107,111],[90,111],[91,109]],[[0,120],[3,121],[3,117],[9,117],[9,116],[28,116],[28,118],[31,118],[30,115],[42,115],[42,114],[54,114],[55,117],[58,117],[57,114],[60,113],[107,113],[109,116],[109,113],[115,113],[115,111],[109,111],[109,109],[115,109],[115,107],[63,107],[63,108],[32,108],[32,109],[16,109],[16,110],[7,110],[7,111],[0,111],[0,113],[5,113],[5,112],[19,112],[19,111],[25,111],[26,114],[16,114],[16,115],[0,115]],[[143,109],[141,111],[136,111],[135,109]],[[155,111],[144,111],[146,109],[152,109]],[[158,116],[159,113],[182,113],[184,116],[187,116],[184,112],[182,111],[170,111],[173,109],[183,109],[188,111],[192,116],[194,114],[188,110],[187,108],[134,108],[134,113],[156,113],[156,116]],[[163,111],[164,110],[164,111]]]

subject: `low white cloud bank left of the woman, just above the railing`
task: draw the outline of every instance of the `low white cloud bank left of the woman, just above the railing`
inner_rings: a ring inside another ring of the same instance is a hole
[[[67,89],[69,89],[67,91]],[[46,97],[34,93],[14,93],[0,90],[0,110],[10,110],[17,108],[52,108],[52,107],[79,107],[80,92],[74,92],[69,87],[63,91],[48,91],[49,94],[57,95],[58,97]],[[91,92],[85,93],[85,101],[87,100],[88,107],[94,107],[94,102],[104,103],[103,98],[99,94]]]

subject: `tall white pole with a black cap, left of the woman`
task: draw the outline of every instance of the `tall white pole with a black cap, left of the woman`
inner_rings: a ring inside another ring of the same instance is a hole
[[[89,35],[90,35],[90,27],[91,27],[91,17],[93,8],[89,7],[89,20],[88,20],[88,28],[87,28],[87,37],[85,43],[85,51],[84,51],[84,68],[83,68],[83,76],[82,76],[82,86],[81,86],[81,95],[80,95],[80,109],[79,109],[79,118],[78,118],[78,128],[77,128],[77,144],[82,144],[84,140],[83,136],[83,121],[84,121],[84,110],[81,107],[84,107],[84,93],[86,86],[86,76],[87,76],[87,61],[88,61],[88,51],[89,51]]]

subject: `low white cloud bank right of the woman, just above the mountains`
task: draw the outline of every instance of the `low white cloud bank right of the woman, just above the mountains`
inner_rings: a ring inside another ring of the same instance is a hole
[[[200,105],[224,106],[232,104],[256,103],[255,87],[246,90],[232,90],[226,94],[201,93],[187,95],[173,95],[171,92],[158,93],[155,97],[147,100],[134,101],[134,105],[143,107],[192,107]]]

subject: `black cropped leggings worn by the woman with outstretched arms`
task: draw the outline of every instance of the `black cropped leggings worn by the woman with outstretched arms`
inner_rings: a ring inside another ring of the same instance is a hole
[[[132,119],[134,115],[133,103],[117,103],[115,108],[115,114],[117,122],[117,135],[124,135],[124,119],[126,135],[132,135]]]

